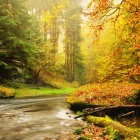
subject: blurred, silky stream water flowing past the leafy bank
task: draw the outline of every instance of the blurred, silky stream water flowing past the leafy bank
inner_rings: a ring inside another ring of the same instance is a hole
[[[64,96],[0,100],[0,140],[68,138],[83,125]]]

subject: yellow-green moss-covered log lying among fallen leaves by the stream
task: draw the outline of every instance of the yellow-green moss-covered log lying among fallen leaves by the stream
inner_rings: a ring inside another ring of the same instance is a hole
[[[106,116],[106,117],[88,116],[86,119],[88,122],[94,123],[95,125],[104,126],[104,127],[111,126],[113,129],[118,130],[119,133],[125,137],[134,136],[134,137],[140,139],[140,132],[138,132],[132,128],[126,127],[119,122],[113,121],[108,116]]]

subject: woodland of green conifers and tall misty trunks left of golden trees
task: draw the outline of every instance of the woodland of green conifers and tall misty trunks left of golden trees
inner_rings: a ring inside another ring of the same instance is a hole
[[[53,75],[84,83],[79,2],[0,1],[1,82],[38,84]]]

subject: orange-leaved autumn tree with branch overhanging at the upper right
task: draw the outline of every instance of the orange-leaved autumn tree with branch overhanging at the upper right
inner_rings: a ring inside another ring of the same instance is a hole
[[[114,27],[114,42],[108,56],[108,58],[110,57],[109,63],[105,65],[104,71],[106,73],[104,72],[102,76],[104,75],[103,79],[112,80],[120,79],[123,75],[125,78],[120,79],[121,81],[139,82],[139,1],[115,2],[114,0],[92,0],[88,7],[90,11],[84,13],[92,21],[94,20],[92,28],[97,38],[100,31],[104,30],[109,22]]]

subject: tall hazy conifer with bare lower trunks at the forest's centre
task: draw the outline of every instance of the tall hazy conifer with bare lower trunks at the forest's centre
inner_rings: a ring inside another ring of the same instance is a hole
[[[85,82],[85,68],[81,54],[81,6],[79,1],[70,1],[65,12],[65,69],[68,81]]]

